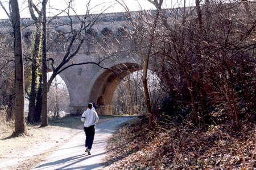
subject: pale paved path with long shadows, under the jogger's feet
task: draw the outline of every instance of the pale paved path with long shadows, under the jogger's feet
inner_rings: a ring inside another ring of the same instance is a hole
[[[131,117],[119,117],[96,125],[92,155],[85,153],[85,133],[81,131],[58,150],[53,151],[34,169],[103,169],[106,154],[106,139],[115,131],[120,123]]]

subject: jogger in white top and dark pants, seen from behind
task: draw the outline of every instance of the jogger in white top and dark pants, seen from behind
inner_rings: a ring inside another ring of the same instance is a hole
[[[98,114],[93,109],[93,104],[88,103],[88,109],[82,113],[81,121],[84,122],[84,132],[85,132],[85,152],[90,155],[90,150],[92,149],[95,125],[98,122]]]

